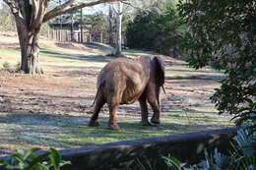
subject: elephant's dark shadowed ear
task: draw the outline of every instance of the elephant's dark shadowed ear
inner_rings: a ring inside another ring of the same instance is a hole
[[[158,85],[164,84],[164,77],[165,77],[165,71],[164,71],[164,63],[160,59],[160,57],[154,57],[153,59],[154,67],[155,67],[155,78]]]

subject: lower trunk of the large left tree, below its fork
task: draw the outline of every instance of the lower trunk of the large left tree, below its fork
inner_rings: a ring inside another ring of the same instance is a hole
[[[38,37],[40,28],[28,30],[17,22],[17,30],[21,46],[22,60],[21,72],[26,74],[42,74],[39,65]]]

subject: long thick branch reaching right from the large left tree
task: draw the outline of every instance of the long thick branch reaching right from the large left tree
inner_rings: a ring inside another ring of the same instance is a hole
[[[81,3],[80,5],[77,5],[77,6],[74,6],[74,7],[70,7],[68,9],[65,9],[68,6],[72,5],[73,2],[74,2],[74,0],[69,0],[65,4],[63,4],[63,5],[59,6],[59,7],[56,7],[53,10],[49,11],[47,14],[45,14],[45,16],[43,18],[43,23],[51,20],[52,18],[54,18],[56,16],[72,13],[74,11],[77,11],[77,10],[85,8],[85,7],[92,7],[92,6],[95,6],[97,4],[114,2],[114,1],[124,1],[124,0],[97,0],[97,1],[94,1],[94,2]]]

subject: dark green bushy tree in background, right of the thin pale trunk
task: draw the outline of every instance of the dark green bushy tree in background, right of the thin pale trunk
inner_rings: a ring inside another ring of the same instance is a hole
[[[138,12],[126,28],[128,47],[176,55],[182,40],[182,22],[171,3],[161,5],[160,11]]]

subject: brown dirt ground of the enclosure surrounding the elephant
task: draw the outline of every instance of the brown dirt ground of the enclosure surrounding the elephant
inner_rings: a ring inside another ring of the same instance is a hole
[[[1,49],[19,49],[15,35],[0,33],[0,39],[0,60],[4,58]],[[60,51],[56,54],[42,49],[41,54],[48,57],[41,59],[44,75],[32,77],[5,72],[0,74],[0,155],[23,146],[65,148],[85,144],[76,142],[69,145],[66,142],[53,142],[52,139],[62,127],[87,125],[96,94],[96,76],[111,60],[105,57],[110,48],[103,45],[99,48],[94,44],[55,43],[47,39],[41,39],[41,43],[46,44],[47,49]],[[80,54],[90,57],[83,58]],[[131,57],[141,55],[131,51],[126,51],[125,54]],[[71,58],[64,63],[58,63],[51,61],[50,56],[53,55],[61,56],[63,60],[66,60],[67,56]],[[92,55],[95,58],[91,57]],[[209,97],[214,88],[220,85],[223,75],[211,70],[193,71],[187,68],[183,61],[163,58],[166,66],[166,93],[161,93],[161,112],[216,114]],[[100,116],[107,118],[107,111],[104,106]],[[120,117],[131,116],[139,121],[140,109],[137,102],[120,106],[118,112]],[[196,131],[229,126],[226,123],[227,116],[217,119],[225,123],[213,123],[205,127],[195,123],[191,128]],[[37,128],[40,126],[42,128]],[[62,133],[69,134],[70,131],[62,130]],[[51,138],[45,138],[45,134]],[[58,136],[62,137],[64,136]],[[51,142],[48,143],[49,140]]]

